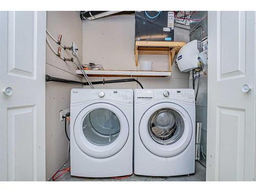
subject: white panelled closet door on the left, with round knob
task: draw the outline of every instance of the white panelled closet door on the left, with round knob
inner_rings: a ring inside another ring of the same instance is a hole
[[[0,11],[0,180],[45,181],[46,12]]]

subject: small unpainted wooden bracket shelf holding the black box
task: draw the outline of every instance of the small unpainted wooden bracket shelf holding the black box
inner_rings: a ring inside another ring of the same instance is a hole
[[[172,72],[174,55],[185,44],[182,41],[135,41],[135,64],[138,66],[139,55],[168,55],[169,71]]]

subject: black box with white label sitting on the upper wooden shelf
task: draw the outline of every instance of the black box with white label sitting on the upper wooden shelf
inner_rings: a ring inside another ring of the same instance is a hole
[[[174,41],[174,12],[136,11],[135,40]]]

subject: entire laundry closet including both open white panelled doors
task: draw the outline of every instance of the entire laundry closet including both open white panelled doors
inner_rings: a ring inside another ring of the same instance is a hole
[[[254,12],[0,17],[0,180],[256,177]]]

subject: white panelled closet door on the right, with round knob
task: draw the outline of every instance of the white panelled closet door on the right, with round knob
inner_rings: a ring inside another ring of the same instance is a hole
[[[255,12],[208,12],[208,181],[253,181]]]

